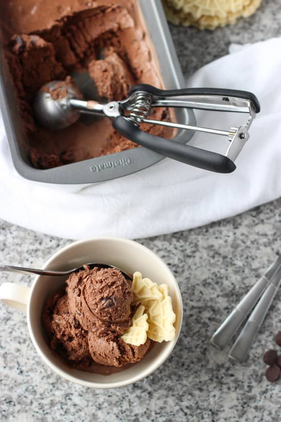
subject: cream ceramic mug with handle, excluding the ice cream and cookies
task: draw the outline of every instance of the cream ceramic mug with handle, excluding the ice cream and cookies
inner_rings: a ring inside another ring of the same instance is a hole
[[[84,372],[69,368],[50,350],[41,325],[41,312],[45,299],[64,283],[65,278],[38,276],[30,288],[14,283],[0,286],[0,299],[14,307],[27,305],[27,321],[32,342],[42,360],[57,374],[68,381],[86,387],[112,388],[134,383],[157,369],[172,352],[182,323],[182,300],[178,284],[168,266],[148,248],[133,240],[121,238],[93,238],[78,240],[56,252],[43,269],[68,270],[86,262],[102,262],[117,266],[127,273],[140,271],[158,284],[169,285],[176,314],[176,338],[170,342],[156,343],[142,361],[110,375]]]

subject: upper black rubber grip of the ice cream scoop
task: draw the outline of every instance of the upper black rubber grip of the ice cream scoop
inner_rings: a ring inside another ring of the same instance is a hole
[[[130,93],[134,94],[135,92],[145,91],[149,94],[152,94],[156,97],[174,97],[174,96],[181,96],[181,95],[219,95],[222,97],[235,97],[235,98],[242,98],[243,100],[251,101],[255,113],[259,113],[261,111],[261,106],[259,100],[256,96],[248,91],[239,91],[239,90],[224,90],[223,88],[183,88],[182,90],[158,90],[152,85],[148,85],[146,83],[142,83],[139,85],[134,86]]]

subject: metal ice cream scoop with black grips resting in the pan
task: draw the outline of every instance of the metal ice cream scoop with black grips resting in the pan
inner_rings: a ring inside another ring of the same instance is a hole
[[[148,119],[153,107],[247,113],[249,118],[242,126],[220,130]],[[216,88],[166,91],[147,84],[134,86],[124,100],[99,103],[94,100],[84,101],[75,83],[66,79],[44,85],[35,97],[33,108],[38,123],[49,129],[63,129],[71,125],[79,119],[80,113],[106,116],[113,119],[114,129],[122,136],[162,156],[209,171],[231,173],[236,169],[233,161],[249,138],[248,129],[255,114],[260,111],[260,104],[252,93],[246,91]],[[142,123],[225,136],[230,145],[226,154],[222,155],[151,135],[140,128]]]

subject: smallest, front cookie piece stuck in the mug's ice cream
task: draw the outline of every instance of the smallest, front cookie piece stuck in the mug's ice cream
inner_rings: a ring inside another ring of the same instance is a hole
[[[140,346],[145,344],[147,341],[147,330],[149,325],[147,323],[148,316],[144,313],[145,307],[139,305],[132,318],[131,327],[121,336],[125,343],[133,344],[134,346]]]

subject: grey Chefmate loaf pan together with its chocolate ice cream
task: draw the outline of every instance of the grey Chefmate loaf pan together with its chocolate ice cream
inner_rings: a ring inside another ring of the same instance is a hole
[[[2,28],[15,87],[12,93],[11,84],[2,86],[12,111],[8,114],[4,110],[4,120],[13,161],[22,175],[53,183],[87,183],[129,174],[162,159],[146,148],[136,148],[108,119],[82,116],[62,131],[51,131],[37,124],[32,110],[41,86],[69,76],[86,99],[108,101],[126,98],[137,83],[160,88],[182,86],[160,2],[68,0],[57,6],[26,0],[0,7],[2,16],[12,22],[9,28],[3,22]],[[7,69],[3,70],[7,79],[5,72]],[[21,121],[15,116],[16,108]],[[173,120],[171,109],[158,108],[153,113],[151,117],[157,120]],[[176,119],[194,124],[191,110],[178,110]],[[161,137],[176,135],[172,128],[146,129]],[[191,135],[185,133],[182,142]],[[177,139],[181,140],[180,134]]]

